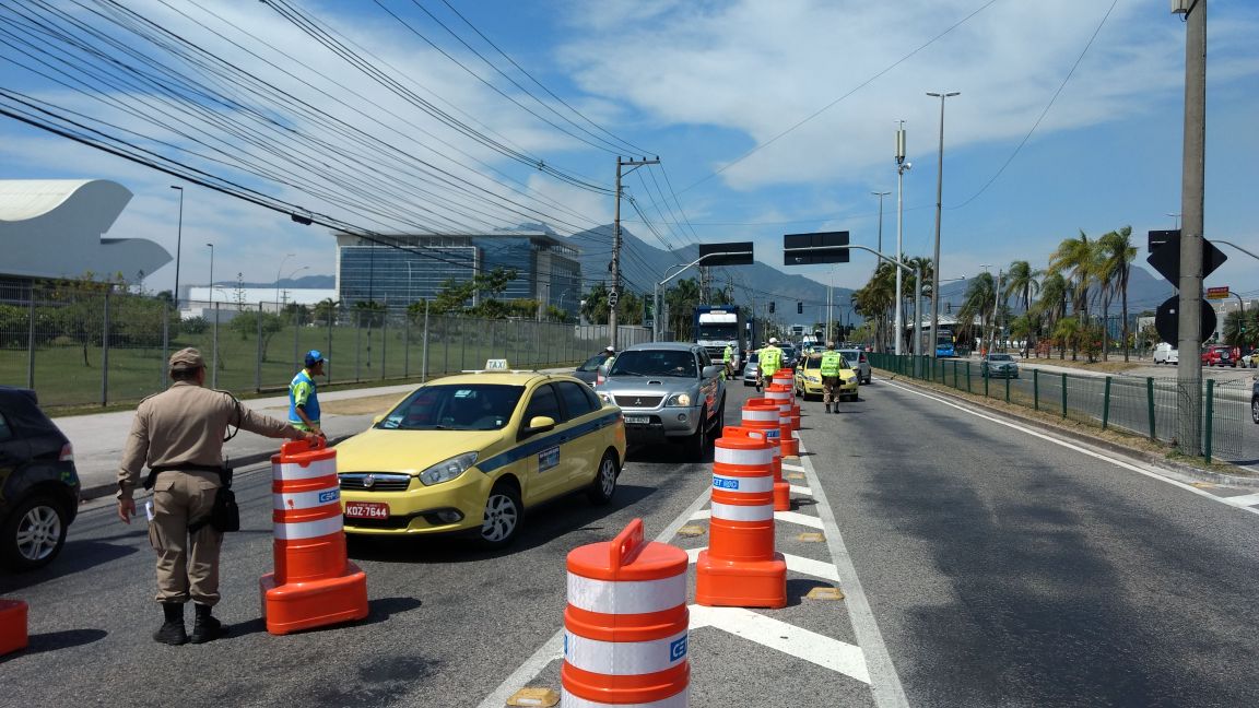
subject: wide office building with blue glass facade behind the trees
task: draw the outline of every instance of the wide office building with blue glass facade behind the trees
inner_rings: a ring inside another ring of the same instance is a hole
[[[336,291],[344,306],[383,302],[390,310],[431,300],[447,280],[515,268],[500,300],[536,300],[575,316],[582,296],[578,249],[535,232],[467,236],[336,234]],[[467,305],[476,302],[468,301]]]

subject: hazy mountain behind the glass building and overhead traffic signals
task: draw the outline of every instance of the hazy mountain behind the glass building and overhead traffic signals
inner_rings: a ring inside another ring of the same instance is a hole
[[[531,227],[536,228],[536,227]],[[556,237],[564,238],[564,237]],[[608,272],[612,262],[612,224],[575,233],[567,238],[582,254],[582,276],[589,282],[603,278],[611,280]],[[663,280],[666,272],[672,275],[675,266],[684,266],[699,258],[699,247],[689,244],[675,251],[665,251],[648,246],[630,229],[621,227],[621,278],[628,290],[651,296],[657,282]],[[792,275],[767,266],[760,261],[750,266],[719,266],[714,267],[713,286],[724,287],[730,285],[734,290],[735,305],[750,306],[755,301],[757,312],[764,314],[765,304],[777,304],[776,316],[791,324],[812,323],[818,317],[818,307],[825,310],[826,286],[801,275]],[[699,271],[690,268],[676,276],[670,285],[682,278],[699,278]],[[835,288],[835,317],[838,319],[840,304],[849,304],[849,295],[852,291],[846,287]],[[805,304],[805,314],[796,314],[796,304]],[[726,302],[719,302],[726,305]],[[822,311],[825,317],[826,312]]]

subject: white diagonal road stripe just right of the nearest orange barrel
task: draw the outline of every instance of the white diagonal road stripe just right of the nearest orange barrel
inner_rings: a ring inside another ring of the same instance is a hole
[[[811,664],[870,683],[870,670],[860,646],[788,625],[743,607],[690,605],[691,631],[715,627]]]

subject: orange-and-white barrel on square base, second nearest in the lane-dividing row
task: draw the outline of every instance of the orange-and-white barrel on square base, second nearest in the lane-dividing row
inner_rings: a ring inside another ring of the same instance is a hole
[[[787,563],[774,551],[772,446],[757,437],[721,437],[713,450],[709,547],[696,562],[695,601],[786,607]]]

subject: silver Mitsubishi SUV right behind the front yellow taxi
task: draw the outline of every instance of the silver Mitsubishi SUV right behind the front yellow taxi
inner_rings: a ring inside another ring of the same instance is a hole
[[[681,440],[703,460],[725,425],[724,370],[697,344],[637,344],[617,354],[594,391],[621,407],[630,443]]]

